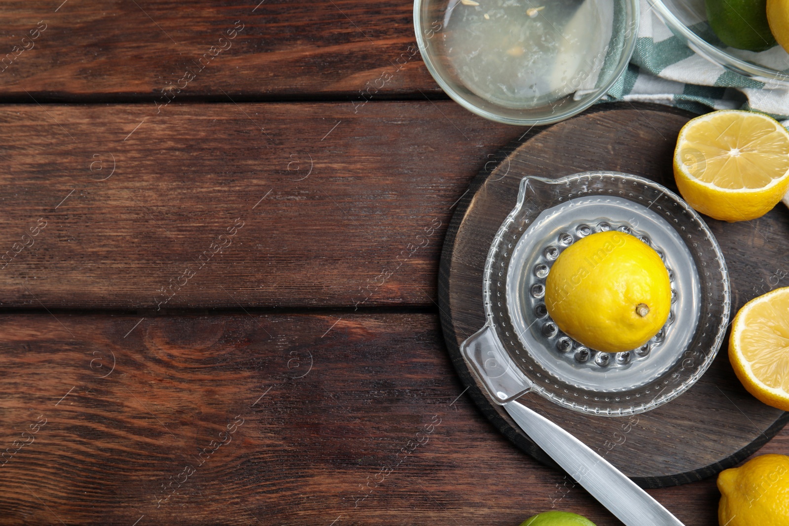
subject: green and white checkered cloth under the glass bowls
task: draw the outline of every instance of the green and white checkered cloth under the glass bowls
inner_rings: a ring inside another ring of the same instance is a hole
[[[780,47],[773,49],[783,54]],[[765,86],[694,53],[660,20],[648,0],[641,0],[630,65],[604,100],[662,103],[696,113],[710,108],[757,110],[789,126],[789,88]]]

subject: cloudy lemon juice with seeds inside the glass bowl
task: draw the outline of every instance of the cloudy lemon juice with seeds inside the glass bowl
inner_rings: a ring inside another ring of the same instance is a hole
[[[451,0],[439,45],[462,83],[499,106],[545,106],[596,86],[610,0]]]

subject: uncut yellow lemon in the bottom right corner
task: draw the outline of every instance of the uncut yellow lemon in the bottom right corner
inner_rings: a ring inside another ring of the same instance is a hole
[[[718,475],[720,526],[789,524],[789,457],[761,455]]]

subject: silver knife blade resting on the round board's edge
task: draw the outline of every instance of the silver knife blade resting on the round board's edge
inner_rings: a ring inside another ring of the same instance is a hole
[[[551,420],[518,401],[504,408],[537,446],[626,526],[684,526],[623,472]]]

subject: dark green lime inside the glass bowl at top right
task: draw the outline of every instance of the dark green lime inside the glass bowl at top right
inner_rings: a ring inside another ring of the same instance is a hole
[[[767,0],[706,0],[709,27],[727,46],[764,51],[776,45],[767,22]]]

